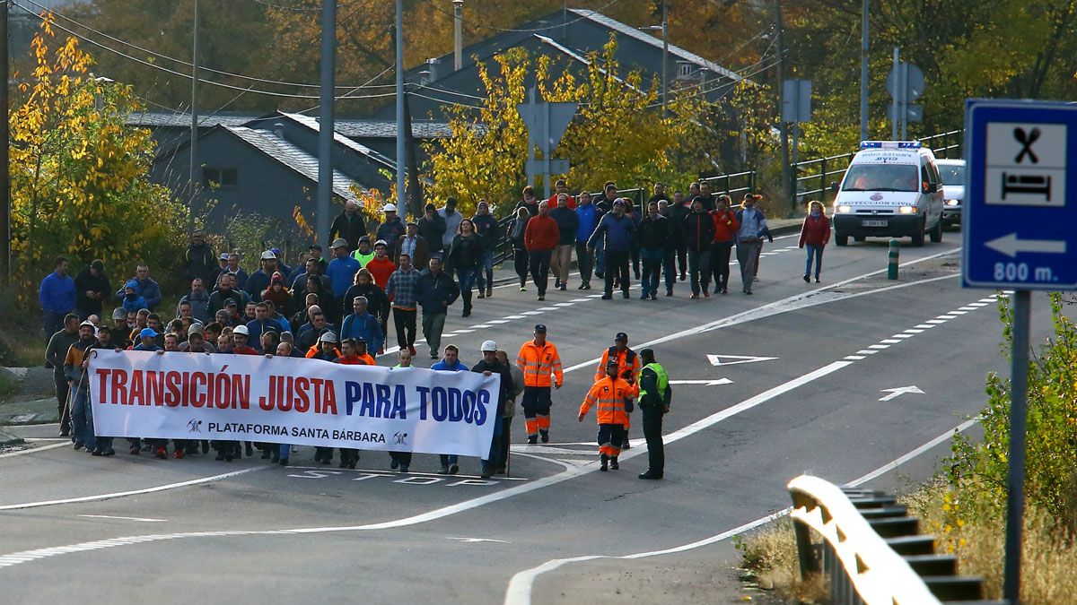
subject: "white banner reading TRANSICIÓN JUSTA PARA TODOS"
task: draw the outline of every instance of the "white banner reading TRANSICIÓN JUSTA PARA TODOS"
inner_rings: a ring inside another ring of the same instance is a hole
[[[294,357],[96,350],[94,432],[487,458],[501,378]]]

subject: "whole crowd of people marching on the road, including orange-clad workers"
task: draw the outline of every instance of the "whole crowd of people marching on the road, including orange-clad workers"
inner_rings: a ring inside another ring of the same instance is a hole
[[[530,276],[544,300],[548,276],[554,287],[569,285],[569,268],[575,254],[581,283],[590,290],[591,277],[604,280],[603,299],[619,289],[629,298],[631,279],[642,282],[643,299],[656,299],[660,283],[673,295],[676,281],[689,281],[690,298],[726,294],[730,256],[736,251],[742,292],[752,294],[757,262],[765,238],[770,237],[767,220],[756,207],[759,196],[749,194],[738,208],[728,196],[715,196],[707,182],[693,183],[688,194],[675,192],[670,199],[661,184],[645,209],[617,196],[614,183],[592,200],[582,193],[569,195],[564,181],[549,200],[536,200],[531,187],[522,192],[507,235],[514,249],[514,266],[520,291]],[[811,206],[801,231],[801,247],[808,245],[809,281],[812,261],[815,280],[822,265],[823,247],[829,224],[822,205]],[[331,228],[331,257],[320,245],[310,245],[294,267],[284,264],[281,251],[266,250],[258,268],[248,273],[239,266],[239,255],[213,251],[205,235],[195,231],[185,257],[184,277],[191,290],[176,309],[160,308],[163,296],[140,264],[135,276],[113,292],[104,264],[94,261],[74,278],[66,258],[57,258],[55,270],[40,286],[39,300],[48,343],[46,364],[54,369],[61,435],[70,436],[74,449],[94,455],[113,455],[112,438],[95,437],[88,380],[84,369],[94,349],[128,349],[159,354],[187,352],[202,354],[267,355],[306,357],[338,364],[375,364],[387,348],[389,320],[400,348],[395,367],[410,367],[414,356],[419,310],[421,329],[432,369],[481,371],[501,375],[502,390],[490,454],[481,461],[481,474],[489,477],[505,472],[508,435],[517,399],[524,412],[528,442],[549,440],[550,391],[560,389],[562,372],[557,348],[546,340],[546,327],[536,325],[534,339],[523,343],[509,363],[506,351],[493,341],[480,348],[482,361],[468,368],[452,344],[442,352],[442,333],[448,309],[462,299],[462,315],[472,312],[473,294],[481,299],[493,295],[494,249],[502,234],[485,200],[476,214],[464,217],[456,200],[442,209],[426,205],[417,221],[403,223],[393,205],[383,209],[372,244],[367,225],[359,208],[349,202]],[[642,265],[642,267],[641,267]],[[631,268],[631,272],[630,272]],[[110,324],[103,314],[113,307]],[[661,478],[661,417],[669,409],[671,390],[666,371],[655,362],[654,352],[632,351],[628,337],[619,333],[615,344],[602,355],[595,384],[579,409],[579,420],[596,407],[602,470],[618,468],[617,455],[628,447],[629,412],[638,402],[643,412],[643,432],[649,450],[649,469],[640,477]],[[642,362],[642,364],[641,364]],[[130,453],[168,455],[165,439],[128,438]],[[254,454],[288,464],[291,448],[279,444],[173,440],[172,455],[216,451],[218,460]],[[316,460],[332,462],[331,448],[318,448]],[[339,464],[354,468],[356,450],[341,449]],[[410,454],[392,453],[392,468],[407,470]],[[439,473],[454,474],[454,455],[440,458]]]

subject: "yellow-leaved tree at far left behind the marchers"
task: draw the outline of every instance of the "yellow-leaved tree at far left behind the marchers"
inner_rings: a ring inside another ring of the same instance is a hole
[[[19,301],[52,259],[101,258],[114,271],[146,262],[165,275],[182,257],[186,211],[150,182],[154,144],[124,124],[138,109],[130,87],[97,80],[75,39],[58,41],[46,15],[34,69],[11,112],[12,278]]]

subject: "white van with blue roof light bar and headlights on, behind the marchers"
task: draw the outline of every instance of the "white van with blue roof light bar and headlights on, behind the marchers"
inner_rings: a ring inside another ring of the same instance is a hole
[[[919,141],[863,141],[834,199],[838,245],[852,237],[942,241],[942,185],[932,150]]]

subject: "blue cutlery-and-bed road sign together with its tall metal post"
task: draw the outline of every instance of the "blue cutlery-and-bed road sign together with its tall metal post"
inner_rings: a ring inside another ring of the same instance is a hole
[[[969,99],[965,145],[963,283],[1013,289],[1003,597],[1017,603],[1032,291],[1077,290],[1077,107]]]

